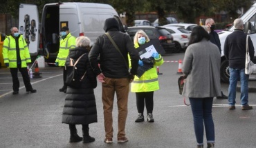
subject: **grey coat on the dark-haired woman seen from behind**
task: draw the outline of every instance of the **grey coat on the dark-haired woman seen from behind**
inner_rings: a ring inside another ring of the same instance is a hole
[[[183,96],[207,98],[221,96],[221,54],[219,48],[203,39],[188,46],[183,59],[185,80]]]

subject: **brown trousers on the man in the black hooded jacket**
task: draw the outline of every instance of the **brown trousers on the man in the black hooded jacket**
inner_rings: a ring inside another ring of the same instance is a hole
[[[127,119],[129,78],[104,78],[102,83],[102,103],[104,110],[104,127],[106,138],[113,138],[113,98],[116,92],[118,103],[118,138],[125,137]]]

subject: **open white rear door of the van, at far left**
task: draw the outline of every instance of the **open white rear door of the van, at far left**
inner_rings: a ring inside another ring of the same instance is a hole
[[[18,29],[28,44],[30,56],[37,56],[39,45],[39,17],[37,6],[25,3],[19,5]]]

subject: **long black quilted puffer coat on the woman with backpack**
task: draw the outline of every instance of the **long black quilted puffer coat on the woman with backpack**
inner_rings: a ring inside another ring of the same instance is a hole
[[[93,91],[93,88],[97,86],[97,80],[89,64],[88,52],[82,47],[76,47],[75,50],[70,51],[66,59],[66,65],[70,63],[69,57],[76,61],[84,53],[86,54],[77,63],[77,71],[82,76],[86,70],[86,75],[80,89],[68,87],[62,123],[75,125],[97,123],[97,109]]]

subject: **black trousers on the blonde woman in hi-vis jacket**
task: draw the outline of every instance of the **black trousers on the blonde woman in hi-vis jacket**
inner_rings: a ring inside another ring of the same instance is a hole
[[[146,104],[147,114],[152,113],[153,107],[154,107],[154,101],[153,101],[154,92],[136,92],[135,94],[136,94],[136,104],[137,104],[138,113],[143,114],[145,104]]]

